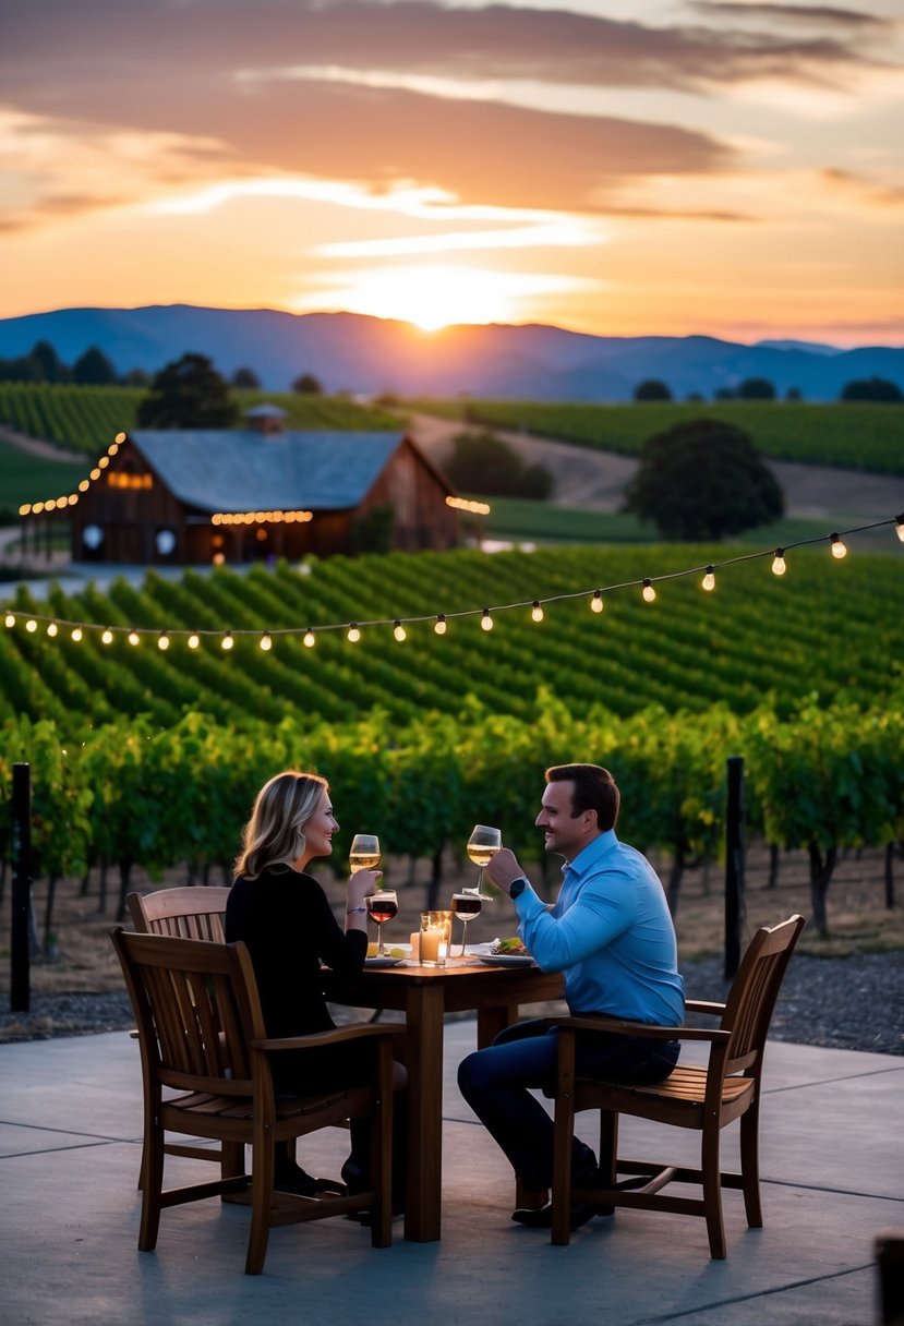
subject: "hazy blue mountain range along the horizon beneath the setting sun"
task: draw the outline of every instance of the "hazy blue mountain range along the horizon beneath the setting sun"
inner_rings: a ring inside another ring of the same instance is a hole
[[[117,373],[155,373],[186,351],[231,377],[253,369],[269,391],[302,373],[325,390],[372,395],[497,396],[533,400],[630,400],[644,378],[676,399],[710,398],[744,378],[767,378],[779,395],[835,400],[846,383],[880,377],[904,390],[904,347],[842,350],[802,341],[742,345],[708,335],[604,337],[557,326],[449,326],[422,332],[357,313],[281,313],[151,305],[57,309],[0,320],[0,358],[49,341],[72,363],[98,346]]]

